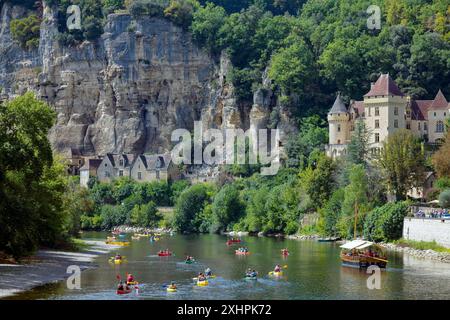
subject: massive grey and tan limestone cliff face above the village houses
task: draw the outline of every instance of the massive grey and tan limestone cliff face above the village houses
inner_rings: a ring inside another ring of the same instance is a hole
[[[101,39],[68,47],[56,40],[57,19],[45,7],[39,49],[24,51],[9,24],[26,15],[19,6],[1,8],[0,87],[3,98],[34,90],[55,108],[49,137],[57,151],[164,152],[172,131],[193,130],[194,121],[209,128],[249,123],[225,80],[226,56],[215,63],[167,20],[111,14]]]

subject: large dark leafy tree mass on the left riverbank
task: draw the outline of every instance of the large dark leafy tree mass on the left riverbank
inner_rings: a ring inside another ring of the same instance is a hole
[[[67,240],[67,179],[48,130],[54,111],[27,93],[0,104],[0,251],[19,258]]]

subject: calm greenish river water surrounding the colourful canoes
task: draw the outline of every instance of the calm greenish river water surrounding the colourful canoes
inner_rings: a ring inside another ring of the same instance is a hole
[[[106,233],[84,233],[86,239],[105,239]],[[339,245],[315,241],[279,240],[244,237],[249,256],[236,256],[234,246],[225,244],[219,235],[163,236],[155,243],[148,238],[132,241],[118,252],[128,263],[111,265],[99,256],[98,268],[84,271],[81,290],[67,289],[66,282],[50,284],[25,292],[19,299],[448,299],[450,265],[419,260],[390,253],[390,263],[381,273],[381,289],[369,290],[362,270],[342,267]],[[290,255],[283,258],[280,249]],[[158,257],[160,249],[169,248],[172,257]],[[198,263],[188,265],[184,257],[194,256]],[[280,279],[267,276],[275,264],[287,265]],[[218,275],[207,287],[197,287],[192,280],[207,266]],[[257,281],[246,281],[248,268],[260,273]],[[118,296],[116,276],[132,273],[140,282],[139,294]],[[178,292],[168,293],[164,285],[174,280]]]

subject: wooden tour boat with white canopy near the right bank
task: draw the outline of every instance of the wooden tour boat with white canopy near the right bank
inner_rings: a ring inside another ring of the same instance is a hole
[[[378,266],[386,268],[388,260],[381,246],[365,240],[353,240],[341,247],[341,261],[343,266],[368,268]]]

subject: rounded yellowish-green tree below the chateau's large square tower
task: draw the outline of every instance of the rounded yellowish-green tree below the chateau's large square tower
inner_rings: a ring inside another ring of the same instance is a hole
[[[383,143],[378,159],[388,191],[398,200],[423,181],[425,157],[420,141],[409,130],[401,129]]]

